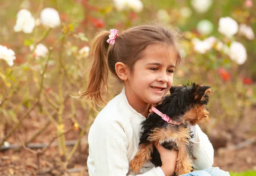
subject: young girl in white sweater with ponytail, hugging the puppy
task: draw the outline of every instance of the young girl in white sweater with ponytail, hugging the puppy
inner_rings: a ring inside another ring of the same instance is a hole
[[[122,92],[97,115],[88,135],[90,176],[134,176],[129,162],[140,141],[141,122],[151,104],[157,104],[173,83],[175,68],[181,63],[178,33],[160,24],[132,27],[122,33],[103,31],[92,46],[93,64],[88,88],[80,93],[96,105],[104,102],[102,89],[107,87],[108,71],[124,83]],[[111,47],[110,47],[111,46]],[[197,158],[195,170],[183,176],[230,176],[212,167],[213,148],[198,125],[191,126]],[[162,166],[147,162],[141,176],[172,176],[177,153],[155,144]]]

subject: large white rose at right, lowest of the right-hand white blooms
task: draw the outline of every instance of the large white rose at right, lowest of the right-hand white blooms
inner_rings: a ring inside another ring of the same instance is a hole
[[[243,64],[247,59],[246,49],[240,42],[232,42],[230,45],[229,56],[233,61],[238,64]]]

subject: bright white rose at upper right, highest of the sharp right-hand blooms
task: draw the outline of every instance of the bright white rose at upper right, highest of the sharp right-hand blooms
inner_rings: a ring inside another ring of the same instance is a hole
[[[218,25],[218,32],[228,38],[231,38],[238,32],[238,23],[230,17],[221,17]]]

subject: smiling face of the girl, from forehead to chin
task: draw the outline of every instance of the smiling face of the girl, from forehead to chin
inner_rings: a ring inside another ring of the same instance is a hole
[[[148,46],[125,81],[129,103],[159,103],[172,87],[176,59],[177,54],[172,46]]]

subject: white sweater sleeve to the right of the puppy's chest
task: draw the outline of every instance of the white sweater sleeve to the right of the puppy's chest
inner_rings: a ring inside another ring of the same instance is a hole
[[[196,170],[203,170],[206,167],[212,167],[214,150],[207,135],[202,132],[198,125],[195,125],[194,130],[196,139],[193,140],[194,155],[197,158],[193,161],[193,167]]]

